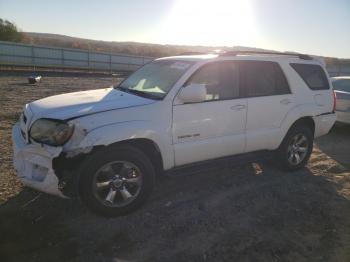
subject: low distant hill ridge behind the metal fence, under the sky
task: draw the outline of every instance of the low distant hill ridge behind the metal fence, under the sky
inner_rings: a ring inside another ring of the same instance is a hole
[[[79,48],[99,52],[124,53],[130,55],[143,55],[162,57],[178,55],[186,52],[210,52],[220,50],[263,50],[250,47],[226,47],[226,46],[185,46],[185,45],[159,45],[138,42],[109,42],[71,37],[58,34],[26,32],[24,43],[46,45],[64,48]],[[266,50],[265,50],[266,51]]]

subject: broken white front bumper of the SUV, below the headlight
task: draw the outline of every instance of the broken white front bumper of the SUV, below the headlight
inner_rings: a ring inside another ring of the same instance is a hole
[[[55,174],[53,159],[62,152],[62,147],[27,144],[19,123],[12,129],[13,163],[17,176],[25,186],[67,198],[59,189],[59,179]]]

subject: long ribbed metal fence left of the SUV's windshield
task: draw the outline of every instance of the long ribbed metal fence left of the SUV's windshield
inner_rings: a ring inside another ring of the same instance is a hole
[[[134,71],[154,58],[0,41],[0,65]]]

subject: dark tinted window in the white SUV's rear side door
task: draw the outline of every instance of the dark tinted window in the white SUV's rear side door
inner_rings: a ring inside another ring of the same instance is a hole
[[[286,77],[275,62],[241,61],[241,85],[247,97],[289,94]]]

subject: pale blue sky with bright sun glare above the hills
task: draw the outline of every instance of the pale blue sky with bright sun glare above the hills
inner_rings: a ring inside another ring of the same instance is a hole
[[[24,32],[350,58],[350,0],[0,0]]]

